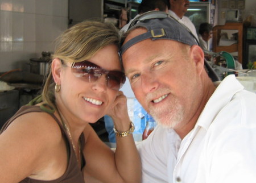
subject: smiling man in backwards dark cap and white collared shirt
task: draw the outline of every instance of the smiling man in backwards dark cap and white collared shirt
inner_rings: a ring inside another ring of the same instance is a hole
[[[126,77],[158,122],[137,144],[142,182],[255,182],[256,94],[234,74],[213,82],[203,50],[170,17],[138,21],[122,42]]]

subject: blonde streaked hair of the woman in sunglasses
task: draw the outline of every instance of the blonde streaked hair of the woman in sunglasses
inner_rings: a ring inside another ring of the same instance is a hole
[[[84,21],[64,31],[56,39],[55,53],[52,60],[59,58],[65,62],[80,62],[90,59],[97,51],[107,45],[119,46],[117,28],[110,23]],[[42,99],[49,105],[55,105],[55,82],[51,68],[44,84]]]

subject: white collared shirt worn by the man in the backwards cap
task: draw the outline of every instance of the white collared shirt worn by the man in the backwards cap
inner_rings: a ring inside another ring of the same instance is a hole
[[[183,140],[158,125],[137,144],[142,182],[255,182],[255,109],[256,94],[225,77]]]

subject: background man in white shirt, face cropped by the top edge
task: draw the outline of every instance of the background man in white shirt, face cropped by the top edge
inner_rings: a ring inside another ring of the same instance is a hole
[[[168,13],[178,20],[180,23],[184,24],[184,26],[188,27],[188,29],[192,32],[192,34],[196,37],[197,40],[198,36],[196,33],[196,27],[191,22],[191,20],[184,16],[185,13],[188,11],[189,1],[188,0],[169,0],[170,1],[170,10]]]

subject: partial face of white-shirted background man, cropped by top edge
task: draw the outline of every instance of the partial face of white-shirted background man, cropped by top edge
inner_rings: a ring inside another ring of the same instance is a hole
[[[171,10],[177,15],[185,14],[188,11],[189,1],[188,0],[170,0]],[[182,16],[183,16],[182,15]]]

